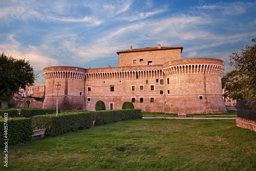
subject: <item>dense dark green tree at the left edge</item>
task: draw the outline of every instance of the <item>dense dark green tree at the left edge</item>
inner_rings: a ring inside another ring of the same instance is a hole
[[[18,93],[20,88],[35,82],[36,75],[29,61],[6,56],[0,56],[0,105],[10,94]]]

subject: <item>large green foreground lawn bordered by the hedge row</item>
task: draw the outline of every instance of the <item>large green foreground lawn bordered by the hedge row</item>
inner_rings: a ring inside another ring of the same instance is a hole
[[[235,120],[138,119],[10,146],[0,170],[256,170],[255,144]]]

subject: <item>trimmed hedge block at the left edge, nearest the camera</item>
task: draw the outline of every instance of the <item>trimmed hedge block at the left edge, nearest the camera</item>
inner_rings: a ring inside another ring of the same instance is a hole
[[[8,113],[9,114],[9,113]],[[31,118],[9,118],[7,121],[8,134],[5,137],[4,118],[0,119],[0,147],[4,147],[4,139],[9,139],[8,145],[15,145],[19,143],[26,143],[31,141],[33,134],[32,119]],[[7,127],[6,127],[7,128]]]

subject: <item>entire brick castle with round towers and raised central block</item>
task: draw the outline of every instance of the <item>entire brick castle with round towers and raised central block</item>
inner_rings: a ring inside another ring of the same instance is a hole
[[[118,67],[84,69],[44,68],[46,96],[43,109],[94,111],[98,100],[106,110],[133,102],[143,112],[226,113],[221,75],[224,61],[181,59],[183,47],[141,48],[117,52]]]

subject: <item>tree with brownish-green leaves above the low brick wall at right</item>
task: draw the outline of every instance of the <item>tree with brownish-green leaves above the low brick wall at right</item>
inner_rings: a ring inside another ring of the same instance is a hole
[[[237,70],[227,73],[222,78],[225,97],[236,100],[248,100],[248,104],[256,105],[256,39],[253,46],[246,46],[241,53],[232,53],[230,65]]]

